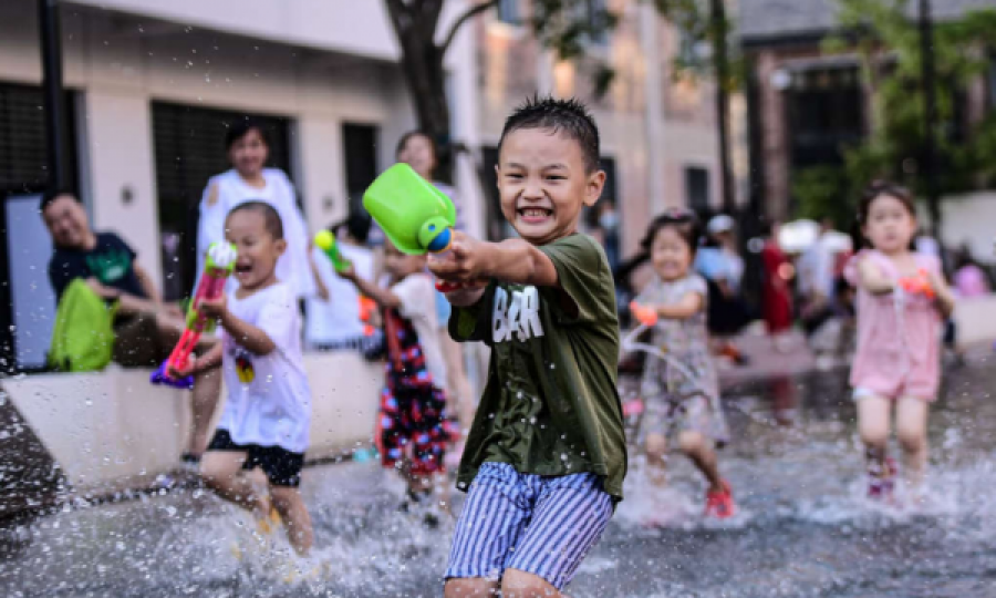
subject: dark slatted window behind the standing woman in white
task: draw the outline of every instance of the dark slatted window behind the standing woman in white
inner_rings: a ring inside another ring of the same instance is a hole
[[[208,179],[230,168],[225,136],[232,123],[252,118],[266,131],[267,166],[290,169],[290,121],[282,116],[153,102],[153,143],[159,233],[163,240],[163,292],[175,300],[194,288],[197,220]]]

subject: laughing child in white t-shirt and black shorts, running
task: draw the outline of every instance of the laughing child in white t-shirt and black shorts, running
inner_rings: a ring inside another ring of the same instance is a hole
[[[200,303],[221,324],[221,342],[193,361],[184,375],[217,368],[228,389],[225,411],[200,465],[205,482],[222,498],[252,511],[268,525],[271,509],[288,527],[299,554],[312,544],[311,517],[298,485],[311,424],[311,390],[301,354],[301,320],[294,291],[277,279],[287,248],[280,216],[269,204],[240,204],[225,220],[236,245],[235,278],[228,298]],[[269,493],[243,472],[259,467]]]

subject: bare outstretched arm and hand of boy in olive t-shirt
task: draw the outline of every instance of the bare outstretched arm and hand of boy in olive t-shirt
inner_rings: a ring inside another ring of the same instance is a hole
[[[429,270],[442,280],[467,283],[495,278],[512,285],[560,286],[553,261],[528,241],[486,243],[459,231],[453,235],[449,254],[429,256]]]

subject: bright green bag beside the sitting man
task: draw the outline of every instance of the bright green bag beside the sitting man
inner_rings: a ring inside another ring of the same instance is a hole
[[[111,363],[114,315],[82,278],[70,282],[59,309],[49,348],[49,367],[62,372],[93,372]]]

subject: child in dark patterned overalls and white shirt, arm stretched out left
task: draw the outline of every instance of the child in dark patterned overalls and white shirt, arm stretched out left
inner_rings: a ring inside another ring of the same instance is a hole
[[[404,255],[388,241],[387,288],[361,278],[353,268],[342,276],[384,310],[387,367],[376,432],[382,464],[407,478],[403,507],[421,504],[426,507],[425,523],[434,525],[438,515],[430,501],[433,476],[444,471],[453,431],[446,421],[446,361],[437,333],[436,288],[425,266],[424,256]]]

